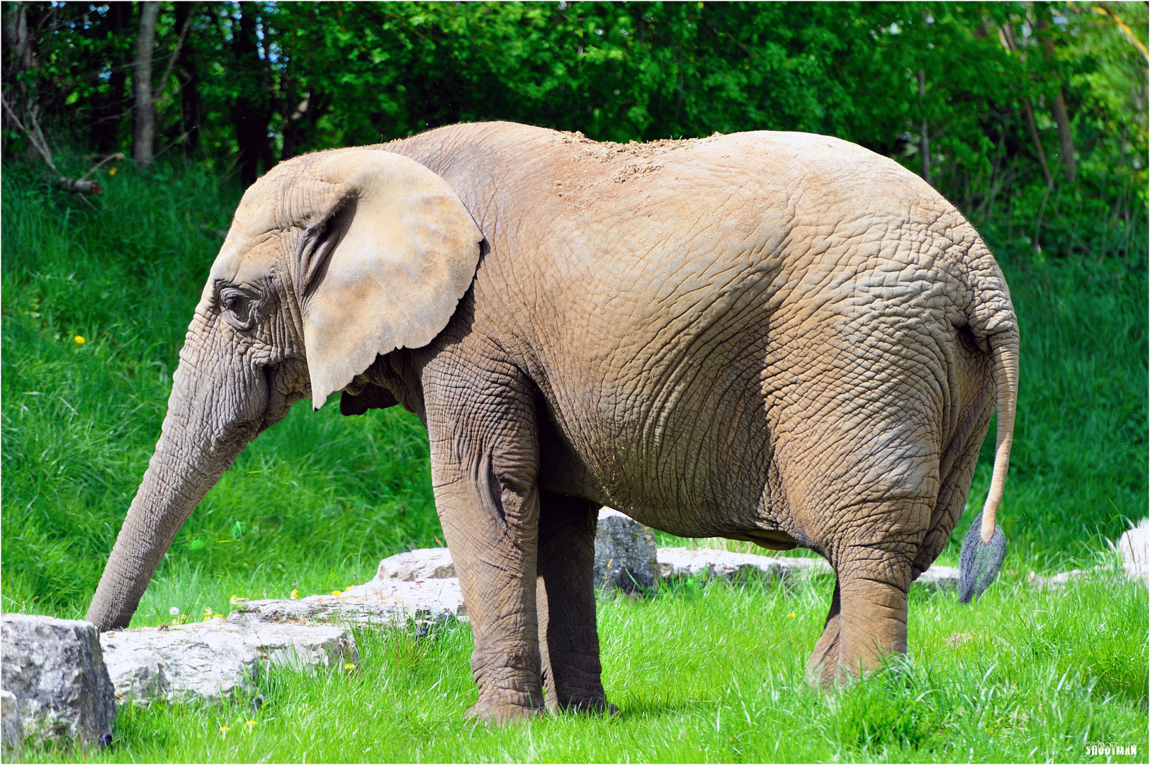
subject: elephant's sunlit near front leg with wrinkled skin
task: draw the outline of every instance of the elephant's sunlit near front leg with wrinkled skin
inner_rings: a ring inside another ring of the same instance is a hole
[[[443,381],[439,381],[443,382]],[[461,400],[428,387],[436,510],[467,604],[480,699],[468,716],[503,722],[544,710],[536,615],[538,442],[530,397],[490,388]]]

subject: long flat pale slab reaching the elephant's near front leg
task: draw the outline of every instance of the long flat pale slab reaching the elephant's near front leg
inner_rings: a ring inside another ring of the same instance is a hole
[[[407,621],[466,619],[458,579],[404,581],[374,579],[339,595],[312,595],[298,600],[247,600],[228,615],[235,624],[339,621],[351,625],[402,626]]]

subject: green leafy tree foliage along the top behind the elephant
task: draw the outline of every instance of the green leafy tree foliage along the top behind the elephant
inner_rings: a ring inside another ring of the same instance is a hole
[[[37,64],[9,66],[6,92],[32,83],[45,123],[66,144],[126,148],[135,16],[123,3],[29,7]],[[245,183],[304,151],[477,120],[620,141],[804,130],[918,171],[925,121],[936,188],[982,217],[1017,208],[1036,250],[1049,248],[1045,229],[1067,213],[1071,217],[1129,221],[1147,204],[1145,59],[1114,21],[1144,45],[1145,3],[162,7],[156,69],[175,54],[181,14],[191,15],[170,82],[153,83],[167,93],[161,144],[220,170],[238,162]],[[1058,171],[1066,161],[1051,106],[1059,93],[1075,184]],[[9,152],[21,145],[17,132],[6,136]],[[1050,197],[1059,211],[1048,209]],[[1081,230],[1072,234],[1059,254],[1099,252]]]

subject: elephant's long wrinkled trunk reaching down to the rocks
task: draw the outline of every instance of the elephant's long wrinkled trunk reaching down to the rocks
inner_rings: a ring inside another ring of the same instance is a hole
[[[260,429],[262,369],[238,368],[233,349],[205,353],[206,323],[197,315],[179,352],[160,441],[89,606],[86,619],[101,632],[128,626],[176,531]]]

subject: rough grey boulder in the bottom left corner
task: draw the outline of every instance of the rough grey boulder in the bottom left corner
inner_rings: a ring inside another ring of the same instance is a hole
[[[116,702],[95,625],[6,613],[0,632],[6,748],[47,739],[112,741]]]

